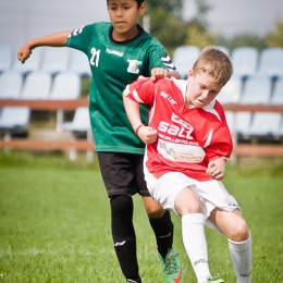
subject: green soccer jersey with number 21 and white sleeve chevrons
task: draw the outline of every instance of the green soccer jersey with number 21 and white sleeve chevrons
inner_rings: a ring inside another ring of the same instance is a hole
[[[127,41],[111,37],[110,23],[95,23],[73,30],[67,47],[86,53],[91,69],[89,115],[97,151],[144,153],[144,143],[134,134],[124,110],[122,93],[139,75],[150,76],[151,69],[174,71],[164,47],[140,26]],[[140,108],[147,124],[148,110]]]

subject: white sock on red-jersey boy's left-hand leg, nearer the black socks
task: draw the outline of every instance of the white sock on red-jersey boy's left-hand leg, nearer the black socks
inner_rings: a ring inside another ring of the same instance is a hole
[[[205,235],[205,216],[189,213],[182,217],[183,243],[198,282],[209,276],[208,248]]]

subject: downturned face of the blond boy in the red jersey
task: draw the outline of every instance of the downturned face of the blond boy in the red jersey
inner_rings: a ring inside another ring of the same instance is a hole
[[[208,106],[219,94],[222,85],[216,83],[214,78],[204,72],[188,73],[188,83],[186,90],[186,104],[188,107],[204,108]]]

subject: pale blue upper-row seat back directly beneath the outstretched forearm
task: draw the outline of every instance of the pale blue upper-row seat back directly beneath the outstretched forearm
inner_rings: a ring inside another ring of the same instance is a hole
[[[52,75],[67,70],[70,60],[70,48],[67,47],[44,47],[40,70]]]

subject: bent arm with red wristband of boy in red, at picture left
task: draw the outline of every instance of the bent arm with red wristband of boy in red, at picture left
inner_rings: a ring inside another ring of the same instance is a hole
[[[123,91],[123,101],[128,120],[135,134],[145,143],[152,144],[157,140],[157,130],[143,124],[139,114],[139,103],[128,98],[126,90]]]

